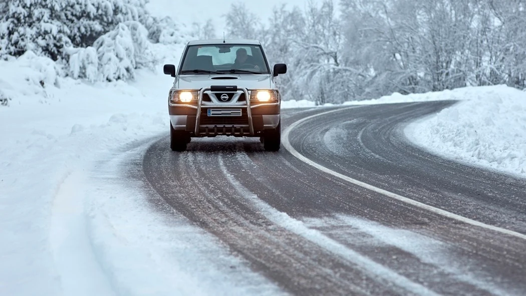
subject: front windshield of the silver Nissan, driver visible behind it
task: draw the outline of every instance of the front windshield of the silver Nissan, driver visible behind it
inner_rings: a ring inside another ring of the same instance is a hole
[[[191,45],[185,53],[179,74],[269,74],[267,61],[259,45]]]

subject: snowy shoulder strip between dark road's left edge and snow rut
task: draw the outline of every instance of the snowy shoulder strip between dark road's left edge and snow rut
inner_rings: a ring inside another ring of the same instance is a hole
[[[148,186],[141,168],[153,141],[110,153],[90,179],[89,188],[95,188],[87,192],[90,238],[114,290],[130,296],[280,295],[274,283]]]

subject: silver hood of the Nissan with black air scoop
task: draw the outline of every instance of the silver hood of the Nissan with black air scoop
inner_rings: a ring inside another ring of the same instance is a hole
[[[211,85],[236,85],[248,89],[272,88],[270,74],[213,74],[180,75],[176,79],[178,89],[200,89]]]

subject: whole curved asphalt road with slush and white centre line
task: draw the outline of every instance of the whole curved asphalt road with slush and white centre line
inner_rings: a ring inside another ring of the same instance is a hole
[[[279,152],[216,137],[175,153],[164,137],[136,166],[167,205],[285,292],[524,295],[526,180],[403,136],[451,104],[284,110],[290,147]]]

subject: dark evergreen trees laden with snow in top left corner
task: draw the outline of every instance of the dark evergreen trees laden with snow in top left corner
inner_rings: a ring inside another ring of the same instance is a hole
[[[2,0],[2,52],[32,50],[54,60],[65,47],[87,47],[118,24],[146,21],[146,0]]]

